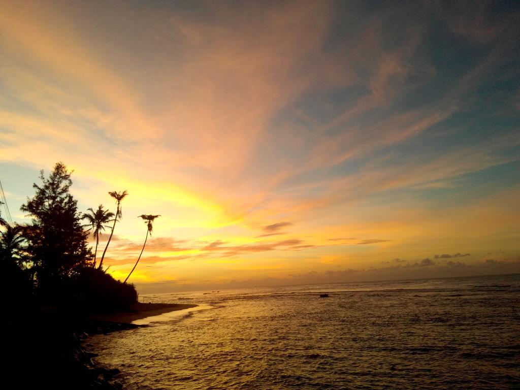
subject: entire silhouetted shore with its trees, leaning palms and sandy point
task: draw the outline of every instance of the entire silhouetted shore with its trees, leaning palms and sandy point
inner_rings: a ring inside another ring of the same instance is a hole
[[[97,367],[94,354],[82,347],[88,334],[135,328],[133,320],[192,307],[137,303],[135,286],[126,280],[140,256],[124,282],[107,273],[103,258],[128,193],[109,192],[115,213],[102,205],[81,213],[70,193],[71,175],[63,163],[48,178],[41,171],[41,184],[33,184],[34,196],[20,207],[30,223],[9,223],[0,215],[0,330],[9,388],[121,388],[113,380],[118,370]],[[148,237],[157,216],[141,217],[148,218]],[[97,264],[100,230],[108,222],[110,238]],[[89,235],[96,238],[94,253]]]

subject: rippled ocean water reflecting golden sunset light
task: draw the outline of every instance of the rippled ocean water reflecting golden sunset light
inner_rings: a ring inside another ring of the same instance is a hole
[[[139,300],[200,306],[89,337],[127,389],[520,388],[520,275]]]

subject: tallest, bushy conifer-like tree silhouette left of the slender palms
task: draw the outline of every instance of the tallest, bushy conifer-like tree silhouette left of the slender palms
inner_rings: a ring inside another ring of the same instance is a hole
[[[31,217],[31,224],[24,227],[24,236],[38,285],[49,292],[86,266],[91,255],[77,201],[69,192],[71,173],[61,162],[54,166],[48,179],[41,171],[43,184],[33,184],[35,196],[20,207]]]

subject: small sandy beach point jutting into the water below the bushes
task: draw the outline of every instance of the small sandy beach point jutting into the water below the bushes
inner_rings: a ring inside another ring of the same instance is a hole
[[[131,323],[146,317],[159,316],[170,311],[196,307],[193,304],[180,303],[135,303],[128,309],[110,314],[97,314],[90,317],[92,320]]]

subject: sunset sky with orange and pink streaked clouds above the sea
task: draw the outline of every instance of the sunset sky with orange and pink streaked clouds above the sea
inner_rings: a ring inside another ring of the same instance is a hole
[[[0,3],[12,219],[127,190],[139,292],[520,272],[518,3]]]

